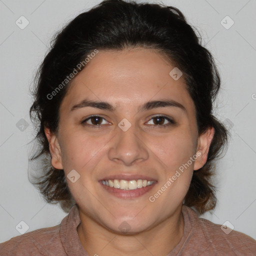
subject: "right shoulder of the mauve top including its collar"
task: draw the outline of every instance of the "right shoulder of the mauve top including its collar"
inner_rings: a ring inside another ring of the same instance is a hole
[[[193,233],[191,242],[200,244],[206,253],[202,255],[207,255],[207,251],[211,252],[211,255],[256,255],[256,240],[252,237],[198,217],[196,212],[187,206],[186,210]]]

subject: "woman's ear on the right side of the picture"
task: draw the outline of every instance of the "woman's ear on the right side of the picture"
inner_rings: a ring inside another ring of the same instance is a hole
[[[204,133],[202,133],[198,137],[197,141],[197,152],[198,156],[194,161],[194,170],[198,170],[201,168],[205,162],[207,161],[208,151],[210,147],[210,143],[212,141],[214,135],[214,128],[209,127]]]

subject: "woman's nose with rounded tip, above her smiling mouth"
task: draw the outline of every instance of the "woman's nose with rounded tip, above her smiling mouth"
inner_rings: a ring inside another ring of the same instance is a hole
[[[126,131],[118,126],[108,150],[108,158],[112,161],[120,162],[127,166],[134,162],[140,162],[148,158],[148,148],[146,141],[136,132],[134,125]]]

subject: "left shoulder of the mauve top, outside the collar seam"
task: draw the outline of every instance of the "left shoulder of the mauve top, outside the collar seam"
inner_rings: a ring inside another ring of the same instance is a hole
[[[37,229],[0,243],[0,255],[50,255],[52,247],[61,247],[60,225]]]

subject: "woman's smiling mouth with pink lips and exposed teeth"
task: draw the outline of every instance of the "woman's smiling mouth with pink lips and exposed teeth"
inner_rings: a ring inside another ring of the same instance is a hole
[[[137,176],[107,177],[99,180],[99,183],[108,193],[116,197],[132,199],[145,194],[157,183],[153,178],[145,176],[137,178]]]

